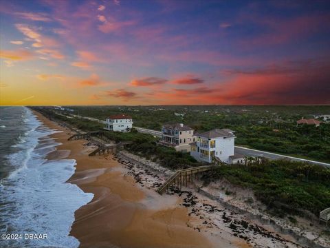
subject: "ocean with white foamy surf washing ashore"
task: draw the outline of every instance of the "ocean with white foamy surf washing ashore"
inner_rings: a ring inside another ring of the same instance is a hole
[[[50,138],[55,132],[27,107],[0,107],[0,234],[21,235],[0,239],[0,247],[79,245],[69,236],[74,212],[93,194],[65,183],[74,174],[74,159],[45,158],[60,145]],[[26,234],[47,238],[30,239]]]

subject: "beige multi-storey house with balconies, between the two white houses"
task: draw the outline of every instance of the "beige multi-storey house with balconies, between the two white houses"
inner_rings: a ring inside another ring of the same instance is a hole
[[[160,145],[174,147],[177,151],[190,152],[190,143],[195,141],[194,130],[183,123],[166,124],[162,127]]]

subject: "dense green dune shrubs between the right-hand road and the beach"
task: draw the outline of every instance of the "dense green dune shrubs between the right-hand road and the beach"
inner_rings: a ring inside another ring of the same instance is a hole
[[[262,165],[214,167],[202,176],[205,183],[222,178],[253,189],[256,198],[270,209],[281,208],[295,214],[308,210],[318,216],[330,206],[330,169],[326,167],[285,160],[263,161]]]

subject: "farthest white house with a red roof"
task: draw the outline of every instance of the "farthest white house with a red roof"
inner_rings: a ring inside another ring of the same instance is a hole
[[[132,125],[133,120],[131,116],[117,114],[106,119],[104,129],[115,132],[128,132],[131,130]]]

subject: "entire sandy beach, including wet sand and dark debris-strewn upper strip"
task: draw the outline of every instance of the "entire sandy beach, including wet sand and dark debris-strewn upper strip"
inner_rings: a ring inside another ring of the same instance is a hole
[[[173,188],[160,196],[156,189],[168,177],[166,169],[132,163],[133,154],[124,151],[88,156],[95,145],[67,141],[73,132],[35,114],[63,131],[52,135],[62,145],[48,159],[75,159],[76,172],[68,183],[94,194],[75,213],[70,235],[80,247],[305,247],[192,188]]]

